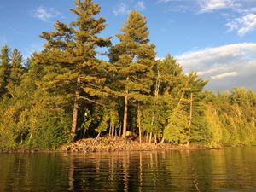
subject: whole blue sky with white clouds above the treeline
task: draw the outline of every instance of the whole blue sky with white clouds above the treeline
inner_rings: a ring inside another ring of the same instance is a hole
[[[95,0],[113,36],[136,9],[148,20],[158,58],[171,54],[183,71],[209,80],[207,89],[256,90],[256,0]],[[1,0],[0,47],[8,44],[27,58],[43,48],[41,32],[56,20],[69,23],[73,0]]]

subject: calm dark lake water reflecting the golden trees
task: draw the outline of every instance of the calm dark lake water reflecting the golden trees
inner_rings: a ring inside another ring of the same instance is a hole
[[[0,191],[256,191],[256,147],[0,154]]]

